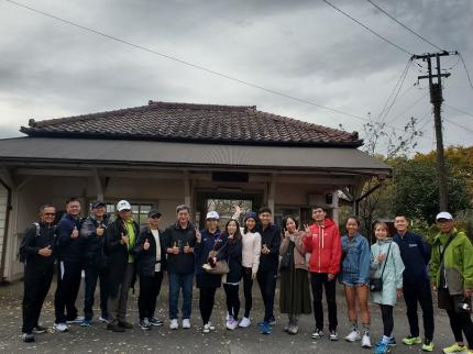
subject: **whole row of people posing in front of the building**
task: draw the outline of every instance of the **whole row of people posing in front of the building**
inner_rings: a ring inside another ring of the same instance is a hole
[[[133,328],[125,320],[129,289],[140,281],[138,307],[140,327],[150,330],[163,324],[155,317],[156,299],[164,272],[167,273],[169,328],[189,329],[194,279],[199,289],[202,332],[216,329],[211,322],[216,291],[223,285],[227,298],[228,330],[251,325],[252,287],[256,280],[264,303],[264,317],[257,323],[262,334],[271,334],[275,321],[276,280],[280,276],[279,311],[287,314],[284,330],[298,333],[300,314],[315,316],[312,339],[323,338],[322,295],[326,292],[329,340],[338,341],[337,279],[343,285],[348,305],[349,342],[361,341],[372,347],[370,339],[370,292],[380,306],[383,336],[374,353],[384,354],[396,345],[393,336],[393,309],[404,295],[410,333],[405,345],[422,344],[432,352],[433,306],[431,288],[438,290],[439,307],[447,310],[455,343],[444,353],[469,350],[473,353],[473,323],[470,318],[473,292],[473,247],[469,237],[454,228],[450,213],[437,215],[440,229],[432,248],[422,236],[408,230],[406,215],[397,215],[389,234],[386,223],[374,225],[376,242],[370,245],[359,233],[360,221],[348,218],[346,233],[340,235],[337,223],[323,207],[312,208],[314,223],[299,225],[294,215],[286,215],[280,229],[272,223],[272,210],[263,207],[249,212],[240,225],[241,210],[219,230],[219,214],[209,211],[206,226],[198,230],[190,221],[187,206],[176,208],[176,222],[160,229],[158,210],[148,212],[146,226],[140,230],[132,218],[131,204],[121,200],[111,221],[106,203],[92,203],[91,213],[79,218],[80,202],[68,200],[66,214],[54,225],[55,208],[41,207],[40,222],[25,231],[20,257],[25,262],[23,298],[23,340],[34,341],[34,333],[45,332],[38,322],[41,308],[50,289],[57,259],[54,329],[67,331],[73,323],[90,327],[94,295],[100,280],[100,317],[107,329],[123,332]],[[81,272],[85,270],[84,317],[75,306]],[[219,269],[219,270],[217,270]],[[243,284],[244,313],[240,318],[239,287]],[[311,296],[310,296],[311,290]],[[178,298],[183,294],[179,309]],[[311,300],[312,299],[312,300]],[[425,339],[420,338],[417,316],[422,309]],[[361,327],[358,323],[360,309]],[[466,338],[468,346],[463,342]]]

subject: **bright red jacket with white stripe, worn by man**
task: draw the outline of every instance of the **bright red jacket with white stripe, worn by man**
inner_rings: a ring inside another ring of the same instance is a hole
[[[314,223],[304,239],[304,248],[310,253],[309,272],[337,274],[340,272],[342,246],[334,221],[326,218],[323,224]]]

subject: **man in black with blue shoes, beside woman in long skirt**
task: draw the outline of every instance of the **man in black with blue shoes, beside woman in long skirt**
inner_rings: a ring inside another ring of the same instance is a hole
[[[261,256],[256,279],[264,302],[264,319],[260,323],[261,332],[271,333],[271,324],[275,324],[274,295],[276,292],[277,266],[279,262],[280,231],[271,222],[272,210],[263,207],[258,211],[261,221]]]

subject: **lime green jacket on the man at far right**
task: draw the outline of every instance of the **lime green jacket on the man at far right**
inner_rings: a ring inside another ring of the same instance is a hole
[[[449,237],[453,237],[453,240],[446,248],[444,267],[441,267],[440,248],[441,245],[447,244]],[[437,287],[440,287],[441,272],[446,277],[450,295],[459,295],[465,289],[473,289],[473,246],[464,232],[453,229],[449,234],[437,234],[430,259],[431,281]]]

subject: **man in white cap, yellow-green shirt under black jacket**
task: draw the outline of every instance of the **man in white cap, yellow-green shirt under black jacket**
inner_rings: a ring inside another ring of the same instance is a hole
[[[131,204],[120,200],[117,204],[117,220],[107,230],[106,253],[109,266],[109,288],[107,329],[123,332],[133,325],[125,321],[129,289],[135,277],[134,257],[130,251],[134,247],[140,228],[132,218]]]

